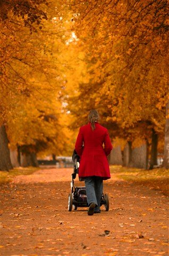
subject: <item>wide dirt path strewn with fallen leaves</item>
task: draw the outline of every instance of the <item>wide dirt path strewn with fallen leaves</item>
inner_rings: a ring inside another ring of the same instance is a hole
[[[2,256],[168,256],[166,196],[112,179],[104,183],[108,212],[69,212],[71,173],[44,169],[1,187]]]

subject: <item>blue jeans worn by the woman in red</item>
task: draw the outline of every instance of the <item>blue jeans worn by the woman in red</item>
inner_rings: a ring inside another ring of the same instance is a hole
[[[103,194],[103,178],[92,176],[85,178],[86,194],[88,205],[95,203],[95,211],[100,210],[100,201]]]

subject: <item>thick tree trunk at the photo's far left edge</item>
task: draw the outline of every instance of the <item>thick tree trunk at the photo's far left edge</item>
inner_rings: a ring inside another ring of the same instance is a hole
[[[13,169],[10,158],[10,150],[8,147],[8,139],[5,126],[0,127],[0,170],[9,171]]]

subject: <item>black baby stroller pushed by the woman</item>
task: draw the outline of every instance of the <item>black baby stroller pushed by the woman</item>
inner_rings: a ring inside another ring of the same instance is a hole
[[[74,179],[79,173],[79,166],[80,166],[80,157],[78,156],[75,150],[73,151],[72,160],[74,163],[74,171],[72,173],[72,180],[71,180],[71,193],[69,194],[69,197],[68,197],[68,211],[70,212],[72,211],[72,207],[74,210],[77,210],[78,207],[88,207],[86,187],[74,186]],[[79,181],[82,181],[82,179],[79,178]],[[101,205],[105,206],[106,211],[109,210],[109,198],[107,194],[102,194],[100,206]]]

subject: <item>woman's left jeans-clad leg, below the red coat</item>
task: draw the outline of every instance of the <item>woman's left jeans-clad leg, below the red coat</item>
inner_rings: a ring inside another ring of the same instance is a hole
[[[91,203],[95,203],[97,205],[97,198],[95,194],[95,177],[86,177],[85,186],[88,205]]]

